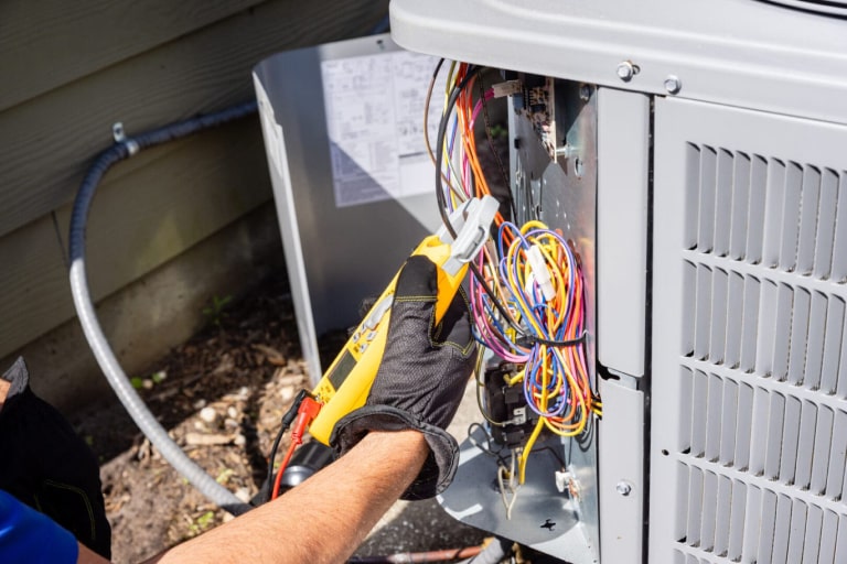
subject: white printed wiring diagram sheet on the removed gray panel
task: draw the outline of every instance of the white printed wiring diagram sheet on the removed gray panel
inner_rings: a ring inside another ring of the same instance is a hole
[[[337,207],[432,191],[424,140],[427,86],[438,59],[405,51],[321,63]],[[443,82],[435,91],[442,93]],[[430,107],[435,139],[440,105]]]

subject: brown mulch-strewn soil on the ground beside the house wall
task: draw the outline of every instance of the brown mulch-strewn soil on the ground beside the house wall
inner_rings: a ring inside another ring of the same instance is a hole
[[[247,501],[266,478],[282,414],[307,382],[286,280],[264,283],[238,303],[211,304],[208,327],[133,379],[172,438],[218,482]],[[343,335],[321,341],[331,359]],[[328,360],[324,360],[328,364]],[[139,562],[232,519],[164,462],[117,400],[74,425],[101,463],[114,562]],[[288,446],[286,437],[280,456]],[[435,501],[398,505],[358,555],[479,544]]]

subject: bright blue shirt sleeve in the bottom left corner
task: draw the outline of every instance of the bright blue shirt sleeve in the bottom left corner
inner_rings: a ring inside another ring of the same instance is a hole
[[[78,553],[73,534],[0,490],[0,562],[76,564]]]

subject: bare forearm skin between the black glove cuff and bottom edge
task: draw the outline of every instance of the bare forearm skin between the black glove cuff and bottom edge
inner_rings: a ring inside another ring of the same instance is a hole
[[[416,431],[371,433],[285,496],[156,562],[344,562],[411,484],[428,452]]]

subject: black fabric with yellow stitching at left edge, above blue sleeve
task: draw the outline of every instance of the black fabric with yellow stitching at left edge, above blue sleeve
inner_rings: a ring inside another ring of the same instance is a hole
[[[33,393],[22,360],[3,378],[12,387],[0,411],[0,489],[109,558],[111,529],[97,458],[62,414]]]

